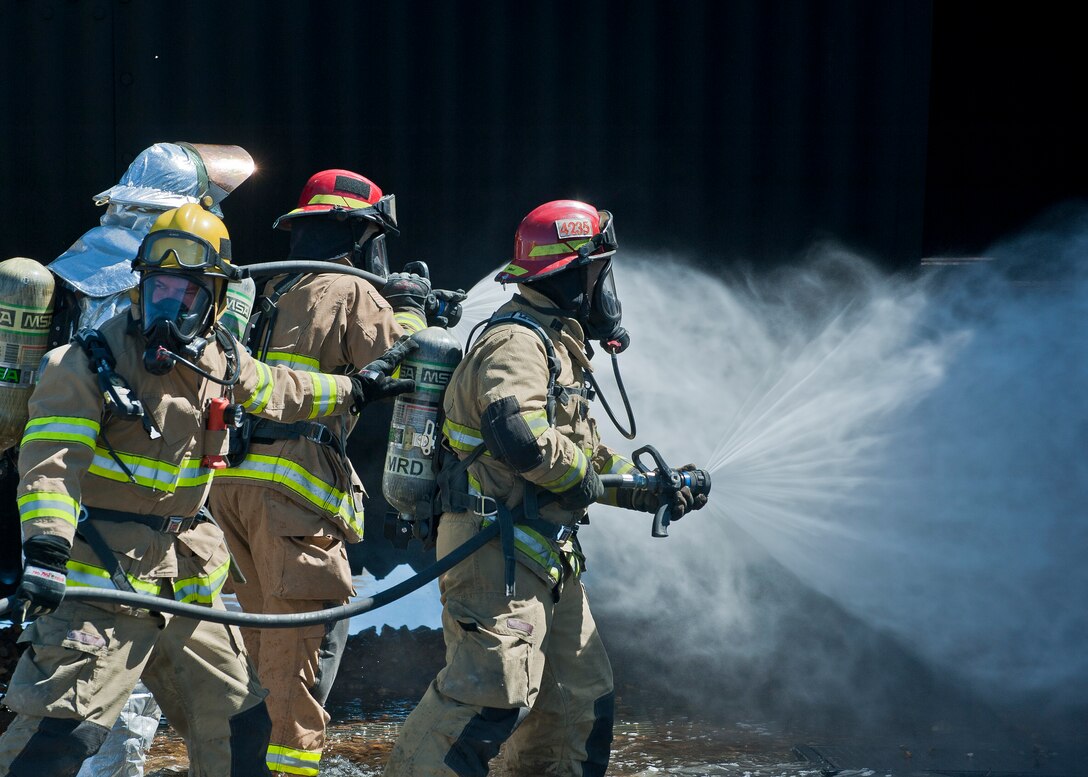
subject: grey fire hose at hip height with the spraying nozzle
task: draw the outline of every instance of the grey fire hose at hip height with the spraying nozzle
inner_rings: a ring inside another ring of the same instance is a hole
[[[656,469],[646,468],[640,460],[643,454],[648,453],[657,465]],[[654,514],[653,536],[668,536],[668,509],[669,495],[687,486],[693,494],[710,493],[710,474],[703,469],[677,470],[665,464],[660,454],[652,446],[646,445],[634,452],[634,464],[638,471],[626,474],[603,474],[601,482],[606,489],[639,489],[651,491],[660,496],[660,506]],[[292,629],[304,626],[314,626],[318,624],[330,624],[356,615],[369,613],[386,604],[407,596],[412,591],[422,588],[426,583],[436,579],[440,575],[448,571],[471,554],[483,547],[499,532],[499,522],[492,521],[468,542],[458,545],[437,562],[426,567],[422,571],[413,575],[407,580],[397,583],[384,591],[379,591],[373,596],[344,604],[337,607],[312,613],[290,613],[282,615],[271,615],[264,613],[240,613],[225,609],[213,609],[195,604],[173,602],[166,599],[148,596],[146,594],[131,593],[128,591],[109,591],[95,588],[73,588],[64,594],[65,600],[75,602],[98,602],[103,604],[115,604],[133,607],[134,609],[149,610],[153,613],[168,613],[183,618],[196,618],[213,624],[225,624],[228,626],[243,626],[261,629]],[[0,614],[7,614],[12,607],[11,597],[0,599]]]

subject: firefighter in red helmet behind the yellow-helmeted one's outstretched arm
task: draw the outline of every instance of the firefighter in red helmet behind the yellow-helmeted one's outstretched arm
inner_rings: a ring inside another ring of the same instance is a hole
[[[322,260],[386,276],[383,292],[354,275],[274,278],[250,338],[255,356],[299,370],[345,372],[366,365],[404,333],[426,325],[430,282],[388,274],[385,238],[398,234],[394,195],[348,170],[306,183],[298,207],[273,229],[290,232],[288,260]],[[354,419],[260,421],[247,428],[248,453],[220,470],[211,508],[246,582],[244,609],[308,613],[355,593],[346,544],[363,533],[364,492],[347,457]],[[343,656],[348,621],[297,629],[243,629],[269,689],[273,773],[318,774],[329,714],[325,700]]]

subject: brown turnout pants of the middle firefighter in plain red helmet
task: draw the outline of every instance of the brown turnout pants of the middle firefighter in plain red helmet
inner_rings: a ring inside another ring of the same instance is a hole
[[[272,489],[215,485],[209,505],[246,578],[234,583],[250,613],[310,613],[354,593],[344,542],[331,525]],[[293,629],[242,629],[269,690],[268,767],[317,775],[325,743],[325,700],[347,641],[348,621]]]

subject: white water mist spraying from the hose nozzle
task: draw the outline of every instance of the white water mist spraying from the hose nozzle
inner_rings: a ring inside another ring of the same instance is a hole
[[[707,671],[734,658],[774,676],[769,656],[813,648],[781,643],[796,603],[753,590],[746,570],[767,553],[976,692],[1081,703],[1088,223],[1063,223],[985,267],[911,276],[834,247],[730,280],[625,252],[638,439],[595,415],[620,451],[652,443],[710,469],[714,492],[667,540],[650,516],[595,513],[582,532],[595,610],[663,631],[606,640],[664,638]],[[777,681],[801,693],[848,676],[850,641]]]

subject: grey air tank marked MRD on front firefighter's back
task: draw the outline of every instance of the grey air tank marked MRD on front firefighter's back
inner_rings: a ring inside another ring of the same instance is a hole
[[[416,381],[416,391],[393,405],[390,444],[385,451],[382,494],[405,519],[430,519],[434,494],[434,452],[442,442],[442,397],[461,360],[462,348],[449,332],[429,326],[413,334],[419,343],[400,365],[400,377]]]

